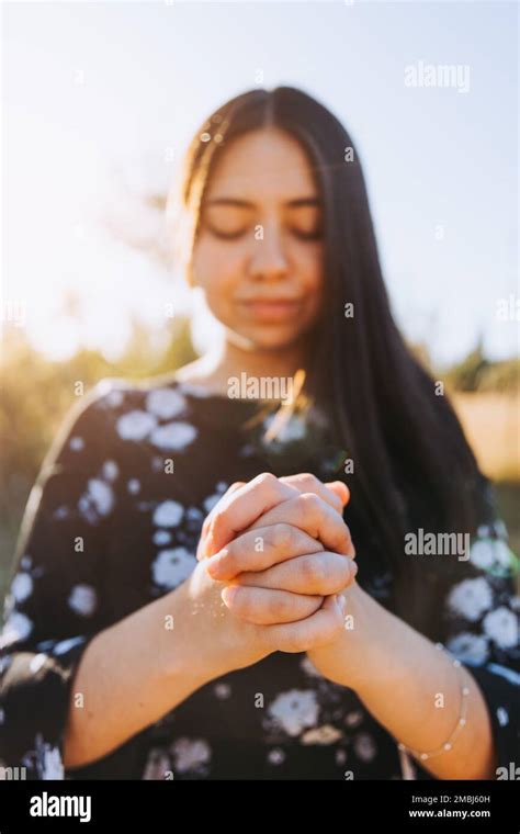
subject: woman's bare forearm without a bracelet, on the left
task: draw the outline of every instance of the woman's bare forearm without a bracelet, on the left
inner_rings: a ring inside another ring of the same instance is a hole
[[[180,586],[87,646],[71,688],[66,767],[108,755],[211,679],[204,664],[194,661],[193,622],[185,611]]]

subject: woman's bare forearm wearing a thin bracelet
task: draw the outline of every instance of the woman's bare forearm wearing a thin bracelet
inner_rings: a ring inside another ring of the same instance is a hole
[[[440,779],[488,779],[495,774],[489,715],[467,669],[389,613],[357,585],[343,593],[353,629],[309,652],[323,674],[355,690],[365,707],[407,747],[437,751],[461,715],[462,687],[470,689],[466,723],[453,748],[421,763]]]

